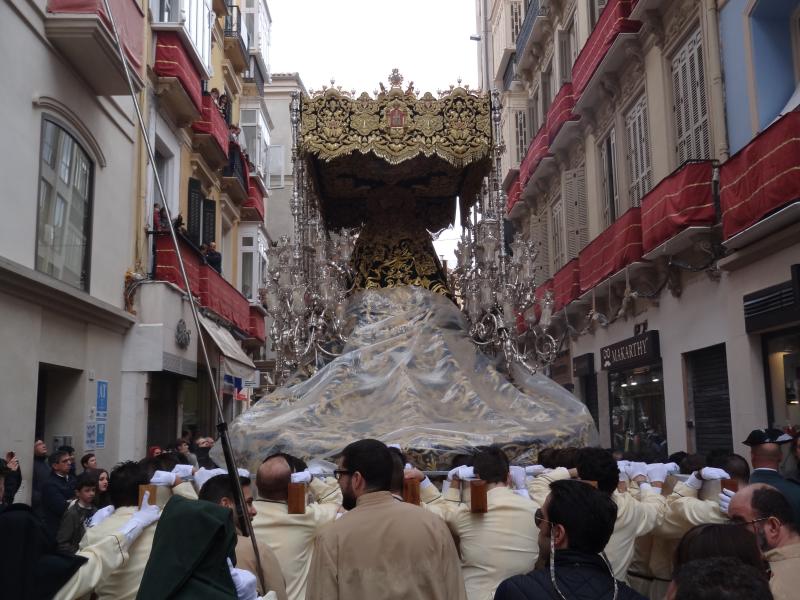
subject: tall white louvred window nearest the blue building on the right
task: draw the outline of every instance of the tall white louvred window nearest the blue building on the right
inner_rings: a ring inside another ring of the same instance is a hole
[[[672,86],[678,164],[691,159],[711,158],[703,43],[699,29],[672,59]]]

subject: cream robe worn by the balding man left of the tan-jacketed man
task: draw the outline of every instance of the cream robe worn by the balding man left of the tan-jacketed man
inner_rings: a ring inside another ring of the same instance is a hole
[[[286,580],[289,600],[303,600],[306,597],[314,539],[323,527],[336,518],[342,501],[336,480],[313,479],[309,488],[319,502],[307,505],[302,515],[290,515],[285,502],[256,500],[253,503],[256,508],[253,533],[260,543],[275,553]]]

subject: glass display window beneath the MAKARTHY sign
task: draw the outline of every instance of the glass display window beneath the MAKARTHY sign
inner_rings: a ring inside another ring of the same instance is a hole
[[[667,456],[667,427],[661,365],[608,374],[611,445],[651,460]]]

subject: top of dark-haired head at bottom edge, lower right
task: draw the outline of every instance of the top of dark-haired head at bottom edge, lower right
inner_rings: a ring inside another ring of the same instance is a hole
[[[766,579],[738,558],[717,557],[686,563],[666,600],[772,600]],[[778,598],[778,596],[775,596]]]

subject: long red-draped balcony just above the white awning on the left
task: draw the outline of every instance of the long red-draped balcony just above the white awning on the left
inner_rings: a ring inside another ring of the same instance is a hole
[[[189,278],[191,292],[197,296],[201,306],[213,310],[242,331],[248,331],[250,302],[247,298],[222,275],[209,267],[200,250],[182,236],[178,236],[178,247]],[[173,283],[182,290],[186,289],[178,266],[178,257],[169,235],[156,236],[155,261],[155,279]]]

